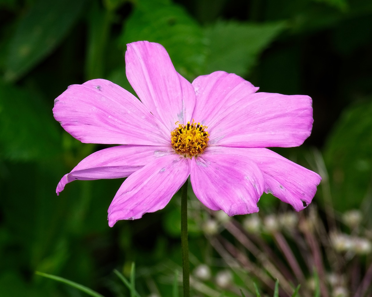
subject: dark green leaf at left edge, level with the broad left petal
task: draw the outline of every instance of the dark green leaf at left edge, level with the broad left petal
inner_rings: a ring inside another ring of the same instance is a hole
[[[0,156],[31,161],[60,152],[60,132],[41,96],[0,82]]]

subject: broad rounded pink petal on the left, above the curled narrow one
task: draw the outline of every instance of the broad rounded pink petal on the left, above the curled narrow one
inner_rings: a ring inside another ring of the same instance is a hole
[[[128,91],[108,80],[70,85],[54,101],[62,127],[85,143],[160,145],[169,132]]]

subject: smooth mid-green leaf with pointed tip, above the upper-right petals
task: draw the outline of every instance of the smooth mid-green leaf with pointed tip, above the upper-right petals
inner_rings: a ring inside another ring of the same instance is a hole
[[[224,70],[241,76],[247,74],[259,55],[285,28],[285,22],[218,22],[206,28],[209,49],[206,72]]]

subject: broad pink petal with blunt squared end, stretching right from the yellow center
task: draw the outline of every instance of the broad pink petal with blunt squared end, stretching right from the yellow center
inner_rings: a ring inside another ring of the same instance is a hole
[[[255,93],[238,101],[208,126],[209,143],[238,147],[301,145],[312,129],[312,100],[303,95]]]

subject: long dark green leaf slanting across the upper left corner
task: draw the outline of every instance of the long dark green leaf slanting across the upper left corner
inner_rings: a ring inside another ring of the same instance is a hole
[[[16,81],[49,55],[67,35],[84,0],[38,0],[23,16],[9,45],[6,81]]]

